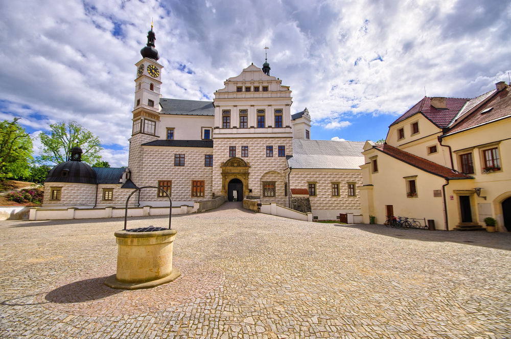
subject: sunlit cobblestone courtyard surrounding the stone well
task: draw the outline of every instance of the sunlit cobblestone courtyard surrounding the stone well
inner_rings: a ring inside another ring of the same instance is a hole
[[[168,218],[128,220],[166,227]],[[509,338],[511,233],[172,218],[182,276],[110,289],[122,219],[0,221],[1,338]]]

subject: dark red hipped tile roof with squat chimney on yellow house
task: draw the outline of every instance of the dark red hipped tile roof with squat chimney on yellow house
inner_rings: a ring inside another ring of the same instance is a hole
[[[446,98],[447,109],[436,109],[435,107],[431,106],[431,99],[432,98],[424,97],[421,101],[417,102],[412,108],[410,108],[405,114],[391,123],[390,126],[397,124],[398,122],[403,121],[417,113],[422,113],[438,128],[443,128],[449,125],[451,120],[456,117],[461,107],[463,107],[463,105],[470,100],[464,98]]]

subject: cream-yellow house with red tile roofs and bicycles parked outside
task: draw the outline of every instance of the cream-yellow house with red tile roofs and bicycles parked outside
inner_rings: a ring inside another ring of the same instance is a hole
[[[422,99],[390,125],[385,144],[364,146],[364,222],[399,215],[471,230],[493,217],[497,231],[511,230],[509,118],[504,82],[474,99]]]

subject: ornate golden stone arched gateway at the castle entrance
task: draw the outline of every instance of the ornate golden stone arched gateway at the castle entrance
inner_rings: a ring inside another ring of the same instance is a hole
[[[233,201],[237,192],[238,201],[248,195],[250,165],[239,157],[232,157],[220,165],[222,169],[222,195]]]

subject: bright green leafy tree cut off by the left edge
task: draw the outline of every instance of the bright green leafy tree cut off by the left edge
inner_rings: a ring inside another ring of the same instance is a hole
[[[32,139],[18,120],[0,122],[0,178],[15,178],[29,174]]]

